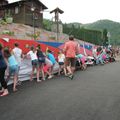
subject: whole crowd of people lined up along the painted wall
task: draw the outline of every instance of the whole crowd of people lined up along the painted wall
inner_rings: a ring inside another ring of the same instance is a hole
[[[0,96],[9,94],[7,83],[13,76],[13,91],[17,91],[17,85],[21,84],[18,78],[22,60],[31,59],[32,71],[30,81],[33,80],[36,73],[38,83],[54,77],[53,70],[56,62],[59,64],[58,75],[64,74],[71,80],[74,78],[74,71],[77,66],[82,70],[87,68],[87,62],[92,61],[93,64],[102,64],[115,61],[114,52],[111,48],[97,47],[93,50],[93,56],[85,56],[80,53],[79,44],[74,41],[74,37],[70,36],[69,41],[65,42],[63,50],[58,53],[57,59],[51,50],[46,53],[42,51],[41,46],[31,46],[29,52],[23,55],[19,44],[15,43],[14,48],[4,48],[0,44]]]

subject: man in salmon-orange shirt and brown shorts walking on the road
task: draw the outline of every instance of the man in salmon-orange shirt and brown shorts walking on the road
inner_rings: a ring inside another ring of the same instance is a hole
[[[63,51],[66,56],[66,68],[68,70],[68,76],[73,79],[73,73],[75,71],[76,54],[79,53],[79,44],[74,41],[74,37],[71,35],[69,41],[65,43]]]

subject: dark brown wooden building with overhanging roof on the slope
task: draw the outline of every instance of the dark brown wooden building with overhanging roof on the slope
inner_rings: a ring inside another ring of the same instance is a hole
[[[12,17],[14,23],[42,27],[44,9],[47,7],[39,0],[20,0],[13,3],[0,0],[0,18]]]

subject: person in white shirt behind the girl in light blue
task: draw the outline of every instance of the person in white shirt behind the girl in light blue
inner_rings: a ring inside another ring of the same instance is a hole
[[[19,67],[19,70],[20,70],[21,61],[22,61],[22,58],[23,58],[22,50],[19,48],[18,43],[15,43],[14,46],[15,47],[13,48],[12,53],[15,56],[16,61],[18,62],[18,67]],[[18,84],[21,84],[21,81],[18,81]]]

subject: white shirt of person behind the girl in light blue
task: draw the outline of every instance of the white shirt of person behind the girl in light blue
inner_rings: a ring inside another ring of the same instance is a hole
[[[21,65],[21,61],[22,61],[22,58],[21,58],[22,50],[20,48],[18,48],[18,47],[15,47],[13,49],[13,55],[15,56],[15,59],[17,60],[18,65],[20,66]]]

